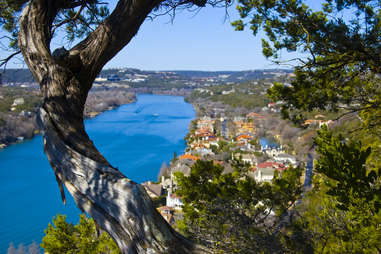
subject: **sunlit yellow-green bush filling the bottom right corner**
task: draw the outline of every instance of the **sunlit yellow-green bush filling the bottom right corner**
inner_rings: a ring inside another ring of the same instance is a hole
[[[315,176],[315,187],[299,208],[299,223],[310,232],[315,252],[379,253],[381,212],[374,212],[374,206],[361,198],[342,210],[342,203],[326,194],[330,181],[325,176]],[[350,199],[354,200],[353,196]]]

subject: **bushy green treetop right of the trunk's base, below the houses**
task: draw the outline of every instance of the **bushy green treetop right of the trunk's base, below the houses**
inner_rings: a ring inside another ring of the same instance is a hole
[[[282,233],[277,230],[284,227],[281,221],[300,197],[302,170],[290,168],[273,183],[260,184],[239,160],[233,167],[233,173],[222,174],[220,165],[198,160],[188,177],[176,173],[184,202],[184,220],[178,229],[216,253],[306,250],[309,243],[304,234],[296,239],[295,234],[284,233],[286,228]],[[266,224],[269,221],[272,226]]]

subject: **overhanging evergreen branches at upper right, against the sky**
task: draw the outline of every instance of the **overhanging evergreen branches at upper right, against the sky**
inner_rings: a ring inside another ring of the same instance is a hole
[[[233,25],[237,30],[250,25],[254,34],[262,28],[266,57],[279,63],[281,50],[306,56],[299,59],[292,86],[276,84],[269,96],[284,101],[284,116],[296,122],[303,111],[345,107],[380,125],[380,2],[326,0],[317,11],[303,2],[238,1],[241,20]]]

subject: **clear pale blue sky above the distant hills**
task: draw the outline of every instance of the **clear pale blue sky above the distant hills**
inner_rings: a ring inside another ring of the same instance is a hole
[[[307,2],[316,6],[321,0]],[[197,14],[178,12],[173,22],[169,16],[147,19],[135,38],[105,68],[217,71],[279,67],[263,57],[262,34],[254,37],[248,29],[234,31],[230,22],[237,18],[234,7],[229,9],[227,20],[224,8],[207,7]],[[58,46],[52,44],[53,48]],[[1,56],[5,56],[4,52]],[[14,62],[8,67],[18,67]]]

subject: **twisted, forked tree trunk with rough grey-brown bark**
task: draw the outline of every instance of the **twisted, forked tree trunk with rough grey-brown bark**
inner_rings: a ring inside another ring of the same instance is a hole
[[[112,236],[123,253],[209,253],[175,232],[145,190],[98,152],[84,128],[83,110],[93,80],[160,1],[121,0],[84,41],[70,51],[51,54],[52,22],[67,2],[31,1],[19,21],[19,47],[44,96],[40,110],[44,148],[63,201],[64,184],[77,206]]]

